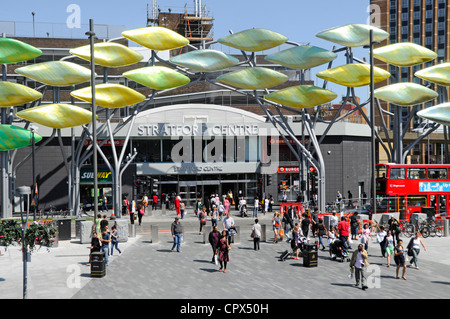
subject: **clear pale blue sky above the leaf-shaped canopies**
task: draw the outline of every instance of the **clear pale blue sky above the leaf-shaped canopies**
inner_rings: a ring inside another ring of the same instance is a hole
[[[331,50],[334,44],[317,38],[315,34],[349,23],[367,23],[369,17],[369,0],[202,0],[201,2],[202,6],[206,6],[209,15],[214,18],[214,39],[228,35],[230,30],[236,33],[250,28],[264,28],[281,33],[290,41],[310,43],[328,50]],[[79,8],[82,29],[87,28],[89,20],[93,19],[95,24],[125,25],[126,30],[131,30],[146,26],[147,5],[151,8],[152,0],[8,1],[2,4],[0,21],[21,22],[17,30],[32,36],[32,12],[34,12],[36,36],[45,36],[47,29],[67,28],[66,22],[75,12],[73,6],[70,6],[73,4]],[[168,8],[171,8],[172,12],[183,12],[185,5],[188,12],[192,13],[193,0],[158,0],[158,6],[165,12]],[[55,25],[46,25],[44,22]],[[80,34],[83,35],[84,32]],[[228,53],[226,51],[228,48],[223,46],[215,49]],[[361,59],[368,58],[366,49],[355,49],[354,54]],[[334,66],[344,64],[344,59],[341,53]],[[322,86],[323,82],[314,74],[324,69],[326,66],[312,70],[313,80],[318,86]],[[345,88],[334,84],[330,84],[328,89],[340,96],[346,92]],[[368,97],[368,88],[357,89],[356,93],[364,101]],[[337,100],[340,100],[340,97]]]

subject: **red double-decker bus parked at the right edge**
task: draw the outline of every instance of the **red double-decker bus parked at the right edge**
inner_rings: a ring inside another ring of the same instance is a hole
[[[450,165],[377,164],[377,213],[421,213],[450,218]]]

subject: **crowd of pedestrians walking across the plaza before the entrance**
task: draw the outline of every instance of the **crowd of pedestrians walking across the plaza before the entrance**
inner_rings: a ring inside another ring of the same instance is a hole
[[[337,199],[342,199],[342,195],[339,192]],[[152,208],[155,209],[157,207],[158,196],[154,195],[150,201],[152,202]],[[176,194],[163,194],[161,196],[161,203],[166,204],[169,209],[176,210],[176,217],[171,225],[173,238],[172,251],[176,249],[177,252],[181,252],[183,226],[180,220],[185,216],[185,203]],[[144,195],[141,203],[134,210],[137,213],[139,225],[141,225],[142,217],[149,204],[149,199]],[[235,221],[230,213],[230,207],[232,205],[238,211],[238,216],[248,216],[247,200],[243,196],[234,198],[231,191],[222,197],[219,197],[218,194],[211,194],[209,198],[204,200],[200,198],[194,205],[194,213],[199,220],[200,234],[207,224],[208,218],[211,221],[212,231],[208,235],[208,241],[212,249],[211,263],[220,266],[219,271],[223,271],[224,273],[227,272],[227,265],[230,261],[230,250],[236,235]],[[253,210],[251,212],[255,220],[251,229],[251,238],[253,239],[253,248],[255,251],[260,250],[262,236],[262,228],[259,223],[258,214],[272,213],[272,205],[272,196],[267,196],[261,200],[256,196],[253,199]],[[129,202],[126,197],[123,206],[124,210],[131,214]],[[96,229],[94,238],[92,239],[91,252],[102,250],[105,251],[105,255],[107,256],[108,254],[112,255],[115,248],[120,255],[121,251],[118,248],[117,229],[114,226],[111,231],[109,230],[105,216],[102,220],[99,219],[96,219]],[[98,223],[97,220],[99,220]],[[134,222],[134,219],[132,222]],[[356,279],[356,286],[361,285],[363,290],[367,289],[366,269],[369,265],[368,251],[369,244],[373,241],[379,244],[381,256],[386,258],[386,266],[390,267],[392,262],[395,263],[395,277],[397,279],[402,278],[406,280],[408,260],[410,267],[419,269],[418,256],[420,248],[423,247],[426,250],[420,234],[416,233],[415,237],[405,247],[403,241],[399,238],[401,232],[399,222],[394,217],[389,220],[387,229],[380,226],[375,236],[372,234],[374,229],[368,223],[360,224],[360,218],[357,213],[353,213],[351,216],[339,216],[336,211],[333,211],[329,216],[327,224],[326,226],[324,220],[319,217],[317,208],[311,214],[301,214],[298,210],[295,210],[294,206],[289,207],[288,205],[287,210],[283,214],[277,211],[273,212],[273,243],[278,244],[280,241],[286,240],[290,243],[292,249],[290,258],[300,260],[303,245],[311,240],[311,236],[314,237],[313,240],[317,243],[318,249],[325,251],[328,246],[330,259],[334,260],[337,257],[347,257],[350,262],[351,275],[354,275]],[[221,230],[219,230],[220,227],[222,228]],[[111,249],[109,249],[110,244]],[[352,245],[355,245],[354,250]],[[350,255],[349,252],[351,250],[353,252]],[[106,258],[106,264],[108,264],[108,258]]]

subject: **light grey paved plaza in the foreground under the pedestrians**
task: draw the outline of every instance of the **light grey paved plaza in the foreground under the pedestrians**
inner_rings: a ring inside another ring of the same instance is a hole
[[[377,243],[369,246],[369,284],[366,291],[348,278],[349,263],[330,260],[319,251],[318,266],[307,268],[302,260],[278,260],[290,250],[286,242],[273,244],[271,214],[260,215],[267,225],[267,242],[253,250],[250,238],[253,218],[234,216],[240,226],[240,242],[232,246],[228,272],[211,263],[212,249],[199,234],[192,212],[181,220],[184,241],[181,253],[171,251],[170,224],[175,213],[161,211],[145,216],[136,225],[136,236],[120,243],[123,254],[110,257],[106,276],[91,278],[86,266],[89,245],[72,240],[58,247],[42,247],[28,263],[30,299],[397,299],[449,298],[450,237],[424,239],[427,251],[419,255],[420,270],[407,269],[407,280],[395,279],[395,266],[386,267]],[[111,223],[111,222],[110,222]],[[151,225],[159,227],[159,241],[152,243]],[[210,222],[208,221],[208,225]],[[219,222],[219,229],[221,224]],[[74,227],[73,227],[74,229]],[[407,242],[407,239],[405,239]],[[407,243],[406,243],[407,244]],[[356,247],[356,245],[353,245]],[[117,252],[115,252],[117,254]],[[1,247],[0,293],[3,299],[22,298],[22,260],[19,247]]]

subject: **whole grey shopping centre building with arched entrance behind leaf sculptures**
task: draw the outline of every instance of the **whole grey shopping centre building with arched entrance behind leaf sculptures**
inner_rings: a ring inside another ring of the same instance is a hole
[[[43,52],[42,56],[27,64],[57,61],[69,56],[70,49],[88,44],[87,39],[15,38],[36,46]],[[129,45],[127,40],[120,40],[119,43]],[[103,82],[107,75],[110,83],[124,84],[147,97],[151,96],[151,90],[122,75],[132,68],[146,65],[149,59],[149,53],[142,47],[130,48],[139,50],[145,56],[144,60],[131,67],[108,70],[97,66],[97,83]],[[237,58],[243,59],[242,56]],[[89,62],[79,58],[73,57],[71,61],[89,67]],[[308,70],[301,79],[299,71],[269,63],[264,60],[263,55],[257,55],[256,62],[289,77],[286,83],[271,90],[298,85],[301,81],[313,83]],[[14,72],[20,66],[23,63],[8,65],[7,80],[38,88],[40,83]],[[214,79],[232,69],[209,76]],[[70,96],[74,89],[88,85],[85,83],[46,90],[40,103],[57,101],[89,108],[88,103]],[[264,92],[257,94],[263,95]],[[17,111],[20,109],[18,107]],[[126,107],[114,113],[112,129],[123,123],[134,110],[134,107]],[[327,110],[330,114],[333,112],[331,108]],[[301,116],[289,111],[284,115],[296,138],[309,145],[309,136],[302,127]],[[371,130],[360,122],[349,119],[339,121],[327,132],[328,124],[325,122],[319,121],[315,126],[318,139],[326,134],[320,144],[325,162],[326,202],[334,201],[337,191],[344,196],[350,191],[353,198],[370,192],[371,170],[368,163],[371,159]],[[99,125],[104,123],[105,115],[99,113]],[[43,137],[37,144],[35,159],[39,208],[48,210],[50,205],[67,208],[69,187],[80,189],[81,203],[92,202],[94,192],[91,158],[87,157],[83,162],[79,180],[69,181],[68,177],[73,176],[70,171],[71,163],[77,156],[75,150],[78,143],[84,144],[83,152],[89,146],[89,140],[80,140],[82,128],[61,129],[61,134],[55,136],[55,131],[49,127],[37,124],[33,126],[37,134]],[[108,136],[103,132],[98,139],[102,142]],[[64,147],[61,148],[60,145]],[[303,174],[299,161],[291,150],[291,147],[296,148],[295,143],[278,133],[254,98],[206,81],[198,81],[152,98],[146,108],[137,114],[135,121],[128,123],[114,135],[114,143],[109,141],[101,146],[102,153],[108,160],[112,158],[113,146],[118,153],[126,147],[125,154],[130,157],[136,154],[121,177],[122,194],[130,199],[138,200],[144,193],[151,195],[155,192],[159,196],[175,193],[182,197],[187,207],[192,207],[198,198],[227,194],[230,191],[234,198],[244,196],[249,203],[255,196],[272,195],[278,203],[283,194],[287,195],[288,201],[296,201],[301,199],[302,190],[306,191],[309,198],[317,192],[317,173],[314,170],[308,173],[311,168],[304,167],[308,172]],[[14,156],[14,163],[11,165],[12,189],[33,184],[30,152],[30,148],[22,148]],[[317,157],[317,154],[314,156]],[[105,195],[110,198],[114,185],[105,158],[100,156],[98,160],[98,194],[100,197]],[[26,160],[22,162],[22,159]],[[301,176],[306,176],[307,179],[304,180]]]

